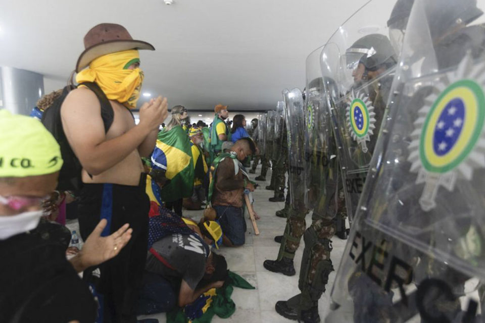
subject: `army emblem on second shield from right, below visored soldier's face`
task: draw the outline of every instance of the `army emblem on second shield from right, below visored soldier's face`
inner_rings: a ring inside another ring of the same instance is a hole
[[[369,98],[364,94],[352,92],[352,100],[347,108],[347,126],[352,138],[361,145],[362,151],[367,152],[366,141],[374,134],[375,113]]]

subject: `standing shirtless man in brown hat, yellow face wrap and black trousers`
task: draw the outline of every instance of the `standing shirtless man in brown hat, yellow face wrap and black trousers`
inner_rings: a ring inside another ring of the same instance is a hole
[[[137,49],[155,48],[133,40],[116,24],[100,24],[84,37],[86,50],[78,60],[76,81],[94,82],[110,100],[113,123],[105,133],[101,104],[90,89],[71,91],[61,107],[63,129],[79,158],[83,187],[78,214],[85,239],[100,219],[107,219],[104,235],[124,223],[133,229],[130,242],[117,257],[88,268],[84,280],[100,300],[103,321],[136,322],[136,303],[147,252],[149,198],[141,156],[155,147],[159,125],[167,117],[167,99],[159,96],[140,107],[135,125],[129,109],[136,107],[143,72]],[[82,70],[87,65],[87,69]]]

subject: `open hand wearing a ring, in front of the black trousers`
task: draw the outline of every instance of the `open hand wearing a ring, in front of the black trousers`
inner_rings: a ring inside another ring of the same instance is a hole
[[[84,266],[95,266],[113,258],[131,239],[133,229],[129,229],[128,224],[125,224],[112,235],[102,237],[101,233],[107,223],[106,219],[101,220],[84,242],[79,252]]]

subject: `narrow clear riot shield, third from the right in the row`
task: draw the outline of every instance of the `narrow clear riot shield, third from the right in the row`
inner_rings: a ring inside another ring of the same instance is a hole
[[[329,100],[323,86],[324,79],[329,82],[329,78],[322,78],[320,71],[321,51],[322,47],[314,50],[306,61],[304,167],[308,183],[307,208],[328,217],[335,216],[339,170]]]

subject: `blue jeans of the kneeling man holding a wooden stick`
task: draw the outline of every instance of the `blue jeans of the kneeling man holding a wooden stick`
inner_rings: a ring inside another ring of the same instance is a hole
[[[245,243],[246,237],[246,220],[243,215],[243,208],[217,205],[214,206],[217,212],[217,221],[219,221],[222,233],[235,246],[241,246]]]

